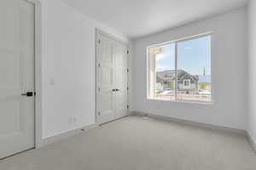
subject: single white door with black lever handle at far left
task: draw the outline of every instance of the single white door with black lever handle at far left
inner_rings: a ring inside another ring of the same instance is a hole
[[[21,95],[34,91],[34,5],[26,0],[1,0],[0,23],[3,158],[34,147],[34,97]]]

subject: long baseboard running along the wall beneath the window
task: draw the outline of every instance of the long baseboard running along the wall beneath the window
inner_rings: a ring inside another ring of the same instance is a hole
[[[171,116],[160,116],[160,115],[143,113],[143,112],[139,112],[139,111],[133,111],[131,115],[137,115],[137,116],[147,115],[148,117],[152,117],[152,118],[159,119],[159,120],[164,120],[164,121],[169,121],[169,122],[180,122],[180,123],[184,123],[184,124],[187,124],[190,126],[205,127],[205,128],[211,128],[211,129],[221,130],[221,131],[230,132],[230,133],[241,133],[241,134],[247,135],[246,130],[232,128],[232,127],[212,125],[212,124],[203,123],[203,122],[188,121],[188,120],[183,120],[183,119],[179,119],[179,118],[174,118]]]

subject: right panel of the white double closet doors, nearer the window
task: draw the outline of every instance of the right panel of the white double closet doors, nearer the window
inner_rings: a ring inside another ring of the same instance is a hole
[[[115,42],[115,75],[116,75],[116,116],[127,115],[127,47]]]

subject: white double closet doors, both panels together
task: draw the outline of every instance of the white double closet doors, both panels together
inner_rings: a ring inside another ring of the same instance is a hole
[[[127,115],[127,48],[97,34],[97,117],[100,124]]]

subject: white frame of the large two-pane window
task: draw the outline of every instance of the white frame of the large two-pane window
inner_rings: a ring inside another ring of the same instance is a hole
[[[183,99],[177,99],[177,43],[179,42],[186,42],[189,40],[194,40],[194,39],[198,39],[201,37],[211,37],[211,42],[210,42],[210,54],[211,54],[211,101],[200,101],[200,100],[183,100]],[[207,31],[205,33],[201,33],[201,34],[196,34],[196,35],[192,35],[189,37],[181,37],[181,38],[177,38],[168,42],[160,42],[160,43],[154,43],[153,45],[149,45],[146,47],[147,50],[147,99],[148,100],[159,100],[159,101],[167,101],[167,102],[181,102],[181,103],[194,103],[194,104],[204,104],[204,105],[212,105],[213,104],[213,96],[214,96],[214,82],[212,82],[212,42],[213,42],[213,31]],[[160,98],[154,98],[150,96],[150,59],[149,59],[149,48],[154,48],[154,47],[159,47],[159,46],[164,46],[166,44],[169,43],[174,43],[175,45],[175,70],[176,70],[176,83],[175,83],[175,99],[160,99]]]

